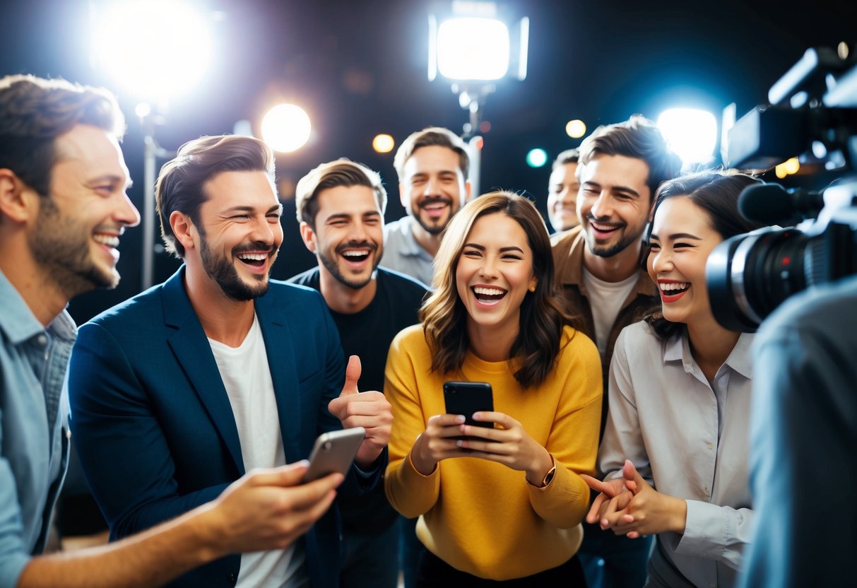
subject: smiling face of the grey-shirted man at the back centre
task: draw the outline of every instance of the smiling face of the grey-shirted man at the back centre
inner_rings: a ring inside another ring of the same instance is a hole
[[[420,147],[405,161],[402,206],[430,235],[440,234],[470,195],[460,164],[458,153],[440,145]]]

